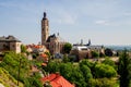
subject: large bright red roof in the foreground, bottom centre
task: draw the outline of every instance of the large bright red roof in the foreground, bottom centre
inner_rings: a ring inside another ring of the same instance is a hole
[[[74,87],[66,78],[59,74],[50,74],[49,76],[43,77],[41,82],[50,82],[52,87]]]

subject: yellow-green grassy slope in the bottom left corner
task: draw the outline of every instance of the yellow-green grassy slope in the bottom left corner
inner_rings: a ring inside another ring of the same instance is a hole
[[[8,71],[0,67],[0,84],[2,84],[4,87],[17,87],[17,80],[14,79]],[[19,87],[24,87],[22,83],[20,83]]]

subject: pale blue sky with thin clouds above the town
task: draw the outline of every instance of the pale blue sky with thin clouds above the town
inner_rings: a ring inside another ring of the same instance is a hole
[[[0,36],[38,44],[44,12],[50,35],[71,44],[131,45],[131,0],[0,0]]]

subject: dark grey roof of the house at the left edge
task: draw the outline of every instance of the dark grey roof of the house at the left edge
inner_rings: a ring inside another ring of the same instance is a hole
[[[0,42],[21,42],[17,38],[14,36],[8,36],[8,37],[0,37]]]

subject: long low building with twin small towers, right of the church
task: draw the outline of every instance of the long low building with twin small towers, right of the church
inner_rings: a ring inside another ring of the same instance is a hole
[[[73,45],[73,48],[71,50],[71,55],[75,55],[76,61],[80,61],[82,59],[88,59],[92,58],[92,51],[96,51],[98,53],[105,54],[105,49],[103,46],[93,46],[91,45],[91,40],[88,40],[88,44],[83,45],[81,41],[80,45]]]

